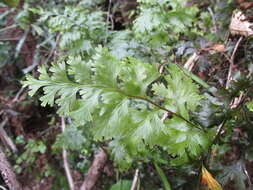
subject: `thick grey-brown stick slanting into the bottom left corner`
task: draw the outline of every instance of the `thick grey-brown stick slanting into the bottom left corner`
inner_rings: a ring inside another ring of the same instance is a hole
[[[17,180],[10,163],[8,162],[2,147],[0,146],[0,173],[4,179],[5,184],[10,190],[22,190],[22,186]]]

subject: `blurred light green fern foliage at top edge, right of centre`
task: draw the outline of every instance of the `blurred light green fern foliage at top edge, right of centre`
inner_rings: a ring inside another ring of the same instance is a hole
[[[196,7],[185,6],[185,0],[140,0],[139,2],[140,15],[135,20],[134,31],[141,38],[145,35],[148,41],[155,44],[177,39],[179,33],[187,32],[198,12]],[[170,8],[172,9],[169,10]]]

